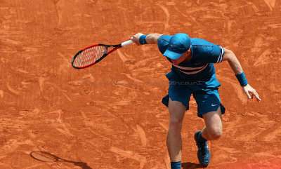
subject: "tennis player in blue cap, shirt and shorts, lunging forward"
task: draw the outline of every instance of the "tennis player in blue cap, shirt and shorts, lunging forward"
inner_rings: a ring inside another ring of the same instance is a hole
[[[189,109],[190,95],[197,102],[197,116],[204,119],[205,127],[195,132],[197,158],[201,165],[209,164],[211,154],[207,140],[218,140],[222,135],[222,114],[226,109],[221,104],[214,63],[227,60],[235,73],[244,93],[249,99],[259,94],[252,88],[244,75],[235,54],[226,48],[209,41],[190,38],[188,34],[178,33],[174,36],[162,34],[135,34],[131,40],[137,45],[157,44],[159,51],[171,62],[168,95],[162,103],[169,109],[169,131],[166,145],[171,160],[171,169],[181,168],[181,127],[185,111]]]

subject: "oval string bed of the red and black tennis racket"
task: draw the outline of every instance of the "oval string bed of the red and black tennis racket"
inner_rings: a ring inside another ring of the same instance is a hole
[[[77,55],[73,65],[75,67],[85,67],[87,65],[91,65],[100,59],[103,54],[105,54],[106,50],[107,48],[105,46],[93,46],[91,48],[87,48]]]

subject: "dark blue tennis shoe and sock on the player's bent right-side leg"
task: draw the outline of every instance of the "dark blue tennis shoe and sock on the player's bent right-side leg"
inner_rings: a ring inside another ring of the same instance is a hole
[[[197,131],[194,135],[194,139],[198,147],[197,158],[201,165],[207,167],[207,165],[209,165],[210,162],[211,153],[208,148],[207,142],[198,142],[197,137],[200,133],[202,133],[202,131]]]

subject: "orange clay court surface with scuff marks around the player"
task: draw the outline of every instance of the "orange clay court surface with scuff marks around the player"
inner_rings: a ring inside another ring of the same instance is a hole
[[[93,43],[137,32],[206,39],[233,50],[262,102],[248,100],[227,62],[216,66],[226,107],[208,168],[281,168],[281,2],[0,0],[0,168],[169,168],[171,64],[156,45],[126,46],[87,69],[70,61]],[[184,169],[200,168],[204,123],[192,98]],[[30,156],[44,151],[60,161]]]

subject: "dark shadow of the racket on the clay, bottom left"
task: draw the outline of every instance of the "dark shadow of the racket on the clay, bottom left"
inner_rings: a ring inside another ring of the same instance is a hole
[[[45,152],[45,151],[32,151],[32,152],[30,152],[30,156],[37,161],[43,161],[45,163],[55,163],[58,161],[63,161],[63,162],[67,162],[67,163],[73,163],[74,165],[77,165],[78,167],[81,167],[82,169],[93,169],[93,168],[89,167],[87,165],[87,163],[69,161],[69,160],[60,158],[58,156],[55,156],[55,155]]]

